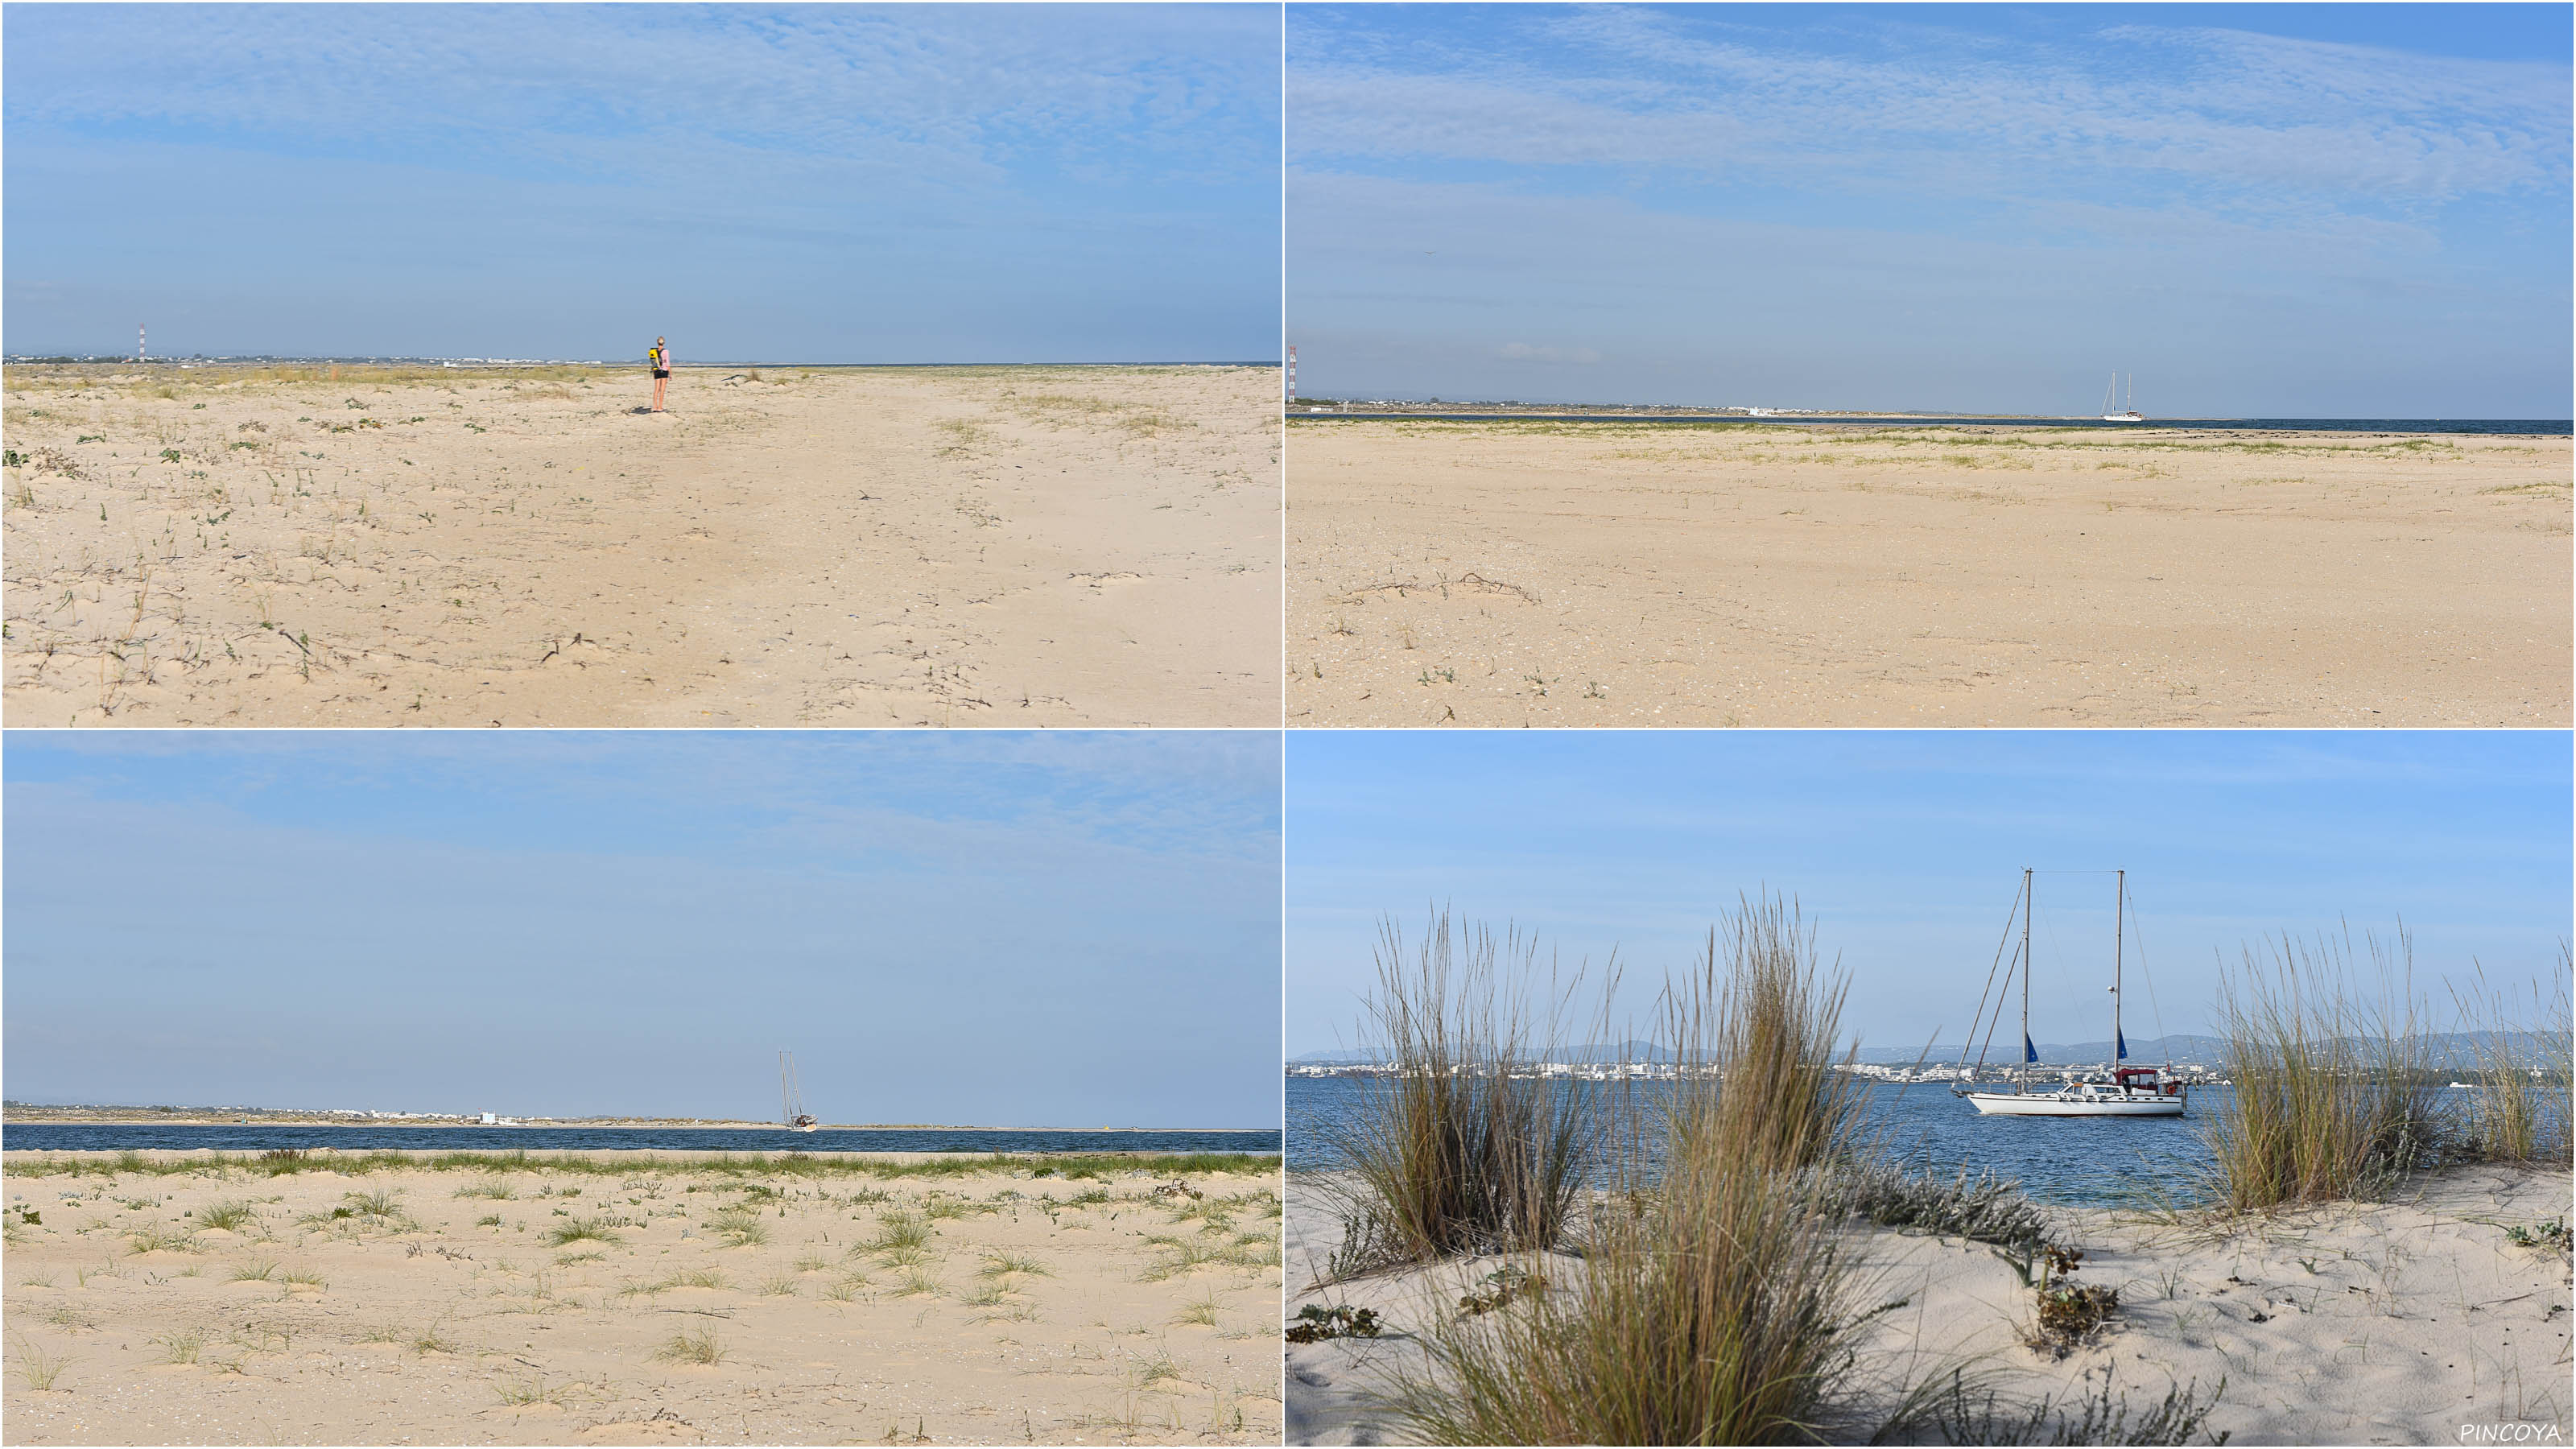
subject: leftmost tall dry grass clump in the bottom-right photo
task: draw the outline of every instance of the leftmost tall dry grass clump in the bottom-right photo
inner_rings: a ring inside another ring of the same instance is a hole
[[[1553,1042],[1582,982],[1577,972],[1533,1003],[1533,967],[1535,946],[1517,933],[1497,938],[1445,913],[1409,962],[1396,926],[1381,928],[1368,1016],[1386,1075],[1368,1078],[1370,1101],[1334,1134],[1360,1183],[1345,1201],[1352,1232],[1334,1274],[1543,1250],[1564,1235],[1600,1114],[1595,1083],[1533,1070],[1533,1031]]]

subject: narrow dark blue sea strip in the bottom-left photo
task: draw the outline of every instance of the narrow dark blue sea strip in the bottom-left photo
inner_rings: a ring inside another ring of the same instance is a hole
[[[93,1127],[28,1122],[0,1127],[10,1152],[124,1150],[268,1152],[1278,1152],[1278,1132],[1018,1132],[1018,1129],[842,1129],[760,1132],[742,1127]]]

